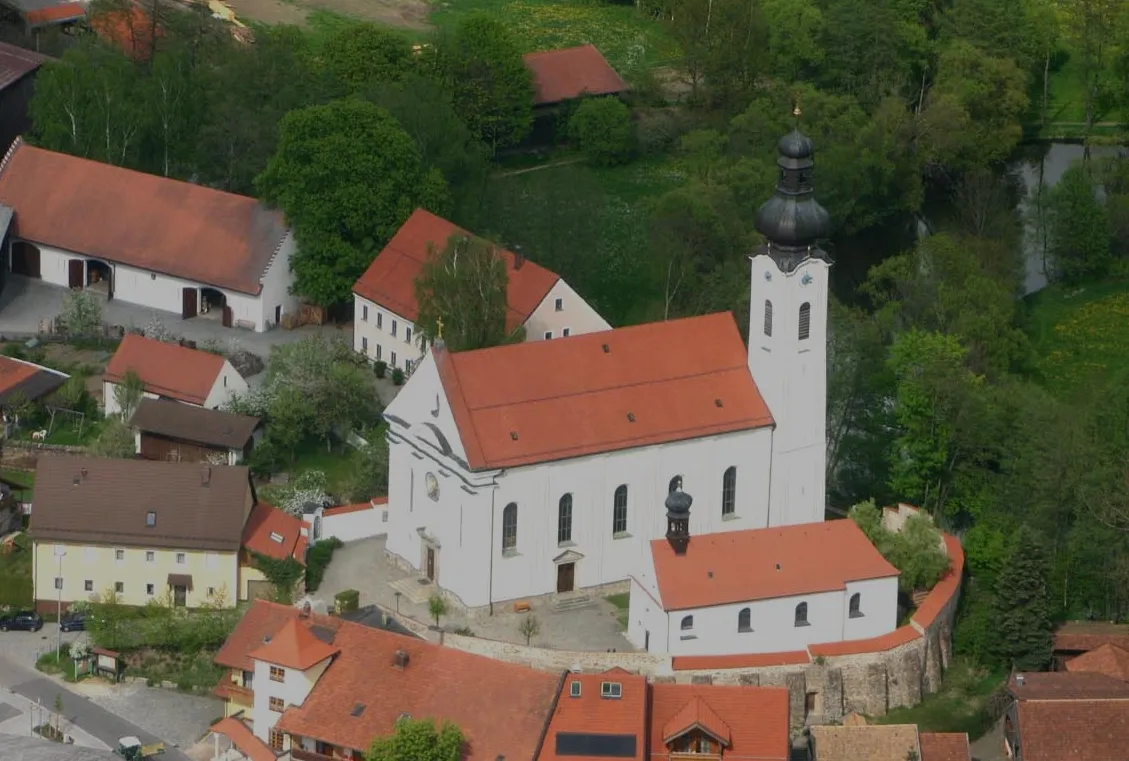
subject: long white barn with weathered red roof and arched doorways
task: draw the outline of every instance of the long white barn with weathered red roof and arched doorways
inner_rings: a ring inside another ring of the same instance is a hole
[[[255,199],[17,140],[0,205],[15,212],[15,274],[260,332],[298,310],[294,235]]]

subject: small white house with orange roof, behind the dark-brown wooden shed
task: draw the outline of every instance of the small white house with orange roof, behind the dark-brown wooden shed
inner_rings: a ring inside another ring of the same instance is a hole
[[[141,379],[143,397],[169,399],[209,410],[247,391],[247,382],[220,355],[130,333],[122,339],[102,379],[107,418],[122,411],[117,390],[130,370]]]

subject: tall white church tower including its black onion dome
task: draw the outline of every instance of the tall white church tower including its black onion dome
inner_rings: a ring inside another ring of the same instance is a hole
[[[799,116],[799,108],[795,115]],[[812,140],[780,139],[776,192],[756,212],[749,370],[772,418],[769,525],[823,521],[826,467],[828,279],[820,242],[831,231],[812,189]]]

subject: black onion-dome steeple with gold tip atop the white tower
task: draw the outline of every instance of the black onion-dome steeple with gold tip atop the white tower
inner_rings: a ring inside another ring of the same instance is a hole
[[[799,107],[793,112],[797,125],[780,138],[776,193],[756,212],[756,230],[764,236],[765,253],[784,272],[791,272],[807,257],[826,259],[820,240],[831,233],[831,216],[815,200],[812,180],[815,146],[799,131]]]

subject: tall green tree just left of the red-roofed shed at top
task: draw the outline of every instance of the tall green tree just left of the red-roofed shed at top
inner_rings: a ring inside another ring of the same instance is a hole
[[[492,151],[520,142],[533,126],[533,75],[506,24],[472,16],[436,46],[438,69],[475,138]]]

